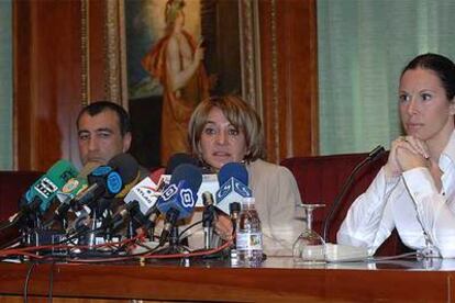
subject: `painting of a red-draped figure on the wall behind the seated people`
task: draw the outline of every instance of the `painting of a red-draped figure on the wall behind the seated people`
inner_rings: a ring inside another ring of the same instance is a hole
[[[201,100],[244,94],[243,7],[222,0],[124,2],[131,152],[144,166],[189,152],[188,121]]]

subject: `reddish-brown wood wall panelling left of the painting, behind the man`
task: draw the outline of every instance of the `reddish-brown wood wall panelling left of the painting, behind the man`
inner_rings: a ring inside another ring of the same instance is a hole
[[[82,0],[85,1],[85,0]],[[82,108],[82,1],[14,1],[14,166],[45,171],[79,162]],[[89,98],[104,98],[103,1],[91,0]]]

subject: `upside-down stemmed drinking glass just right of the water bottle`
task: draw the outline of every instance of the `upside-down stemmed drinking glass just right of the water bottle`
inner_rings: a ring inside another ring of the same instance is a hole
[[[292,247],[293,262],[297,265],[324,263],[325,242],[312,229],[313,211],[325,204],[298,204],[306,213],[306,226]]]

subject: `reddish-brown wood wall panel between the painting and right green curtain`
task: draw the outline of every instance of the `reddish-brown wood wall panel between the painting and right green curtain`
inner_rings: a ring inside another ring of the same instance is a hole
[[[318,154],[314,0],[259,1],[264,126],[270,160]]]

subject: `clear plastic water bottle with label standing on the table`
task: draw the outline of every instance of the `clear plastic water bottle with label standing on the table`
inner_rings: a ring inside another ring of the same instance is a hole
[[[243,200],[236,232],[238,265],[245,267],[257,267],[263,260],[263,231],[254,202],[254,198]]]

